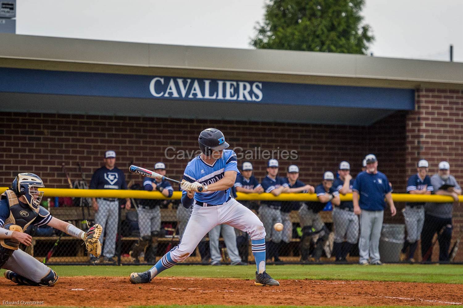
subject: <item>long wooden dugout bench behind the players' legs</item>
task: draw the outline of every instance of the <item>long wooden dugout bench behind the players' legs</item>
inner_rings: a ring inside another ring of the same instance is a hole
[[[136,209],[122,209],[121,210],[121,221],[125,220],[125,216],[128,211],[136,211]],[[161,219],[162,223],[168,222],[172,224],[177,223],[177,210],[176,209],[161,209]],[[92,208],[87,207],[51,207],[50,213],[53,217],[56,217],[60,220],[71,222],[73,225],[81,228],[82,230],[86,230],[87,226],[82,223],[82,220],[94,220],[94,210]],[[322,220],[326,224],[332,223],[332,212],[325,211],[320,212],[320,216]],[[299,214],[297,211],[292,211],[290,213],[290,218],[293,224],[299,224]],[[31,256],[39,259],[40,261],[44,258],[44,255],[50,250],[51,246],[56,242],[58,236],[35,236],[32,238],[32,245],[26,247],[25,251],[29,253]],[[138,237],[121,237],[120,240],[122,241],[123,249],[122,251],[127,250],[127,247],[130,247]],[[223,239],[219,239],[222,241]],[[291,239],[291,244],[294,246],[298,246],[300,239],[295,238]],[[56,249],[54,256],[50,259],[50,263],[85,263],[88,261],[88,256],[85,253],[85,246],[81,245],[82,241],[80,239],[75,239],[67,234],[64,234],[60,242],[63,244],[66,243],[66,247],[70,250],[73,256],[63,257],[60,256],[60,248]],[[159,238],[158,242],[163,246],[167,246],[170,242],[172,245],[176,245],[179,242],[178,237],[165,237]],[[62,249],[63,250],[63,249]],[[160,251],[161,252],[161,251]],[[196,255],[198,257],[191,256],[187,260],[187,262],[200,262],[200,257],[198,251],[196,251]],[[285,257],[282,257],[285,259]],[[295,262],[299,260],[299,257],[287,257],[288,261]],[[293,260],[294,258],[294,260]],[[122,263],[131,263],[130,257],[122,257]],[[297,259],[297,260],[296,260]],[[251,246],[249,245],[249,260],[253,260]]]

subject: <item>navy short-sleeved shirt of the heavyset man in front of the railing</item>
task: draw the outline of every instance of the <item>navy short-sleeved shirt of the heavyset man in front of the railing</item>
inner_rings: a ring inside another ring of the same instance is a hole
[[[376,174],[361,172],[357,175],[352,190],[360,195],[358,205],[367,211],[383,211],[386,207],[384,198],[392,191],[389,180],[382,172]]]

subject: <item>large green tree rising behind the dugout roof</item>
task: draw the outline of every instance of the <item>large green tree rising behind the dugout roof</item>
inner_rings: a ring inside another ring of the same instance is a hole
[[[250,44],[259,49],[366,54],[374,37],[364,0],[270,0]]]

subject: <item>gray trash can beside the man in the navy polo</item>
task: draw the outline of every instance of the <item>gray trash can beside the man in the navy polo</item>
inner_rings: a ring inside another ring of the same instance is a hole
[[[400,250],[404,245],[405,225],[383,224],[379,239],[379,255],[381,262],[400,262]]]

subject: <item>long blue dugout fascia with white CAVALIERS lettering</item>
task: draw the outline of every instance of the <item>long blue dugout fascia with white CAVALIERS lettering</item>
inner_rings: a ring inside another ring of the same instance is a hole
[[[0,92],[413,110],[414,90],[0,68]]]

